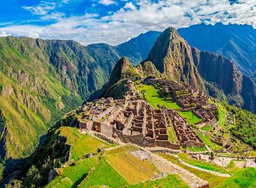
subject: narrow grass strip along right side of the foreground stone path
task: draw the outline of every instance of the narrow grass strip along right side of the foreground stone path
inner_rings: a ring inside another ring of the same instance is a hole
[[[181,164],[180,162],[178,162],[178,159],[175,158],[174,156],[164,154],[164,153],[159,153],[158,155],[162,156],[162,158],[165,158],[165,159],[173,162],[174,164],[178,164],[183,169],[187,169],[191,173],[194,173],[196,176],[198,176],[198,178],[201,178],[203,180],[207,180],[210,183],[211,188],[214,188],[214,187],[217,187],[218,185],[221,185],[221,183],[223,183],[227,179],[227,178],[215,176],[212,173],[207,173],[205,171],[200,171],[198,169],[187,167],[185,164]]]

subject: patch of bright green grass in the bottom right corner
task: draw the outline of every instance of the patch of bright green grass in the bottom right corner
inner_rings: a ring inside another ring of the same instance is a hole
[[[246,168],[234,173],[219,188],[254,188],[256,187],[256,169]]]

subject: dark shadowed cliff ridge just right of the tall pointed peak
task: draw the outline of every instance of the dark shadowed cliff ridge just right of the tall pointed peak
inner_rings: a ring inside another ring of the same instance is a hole
[[[230,104],[255,112],[255,84],[243,75],[232,60],[192,48],[194,62],[207,82],[216,83]]]

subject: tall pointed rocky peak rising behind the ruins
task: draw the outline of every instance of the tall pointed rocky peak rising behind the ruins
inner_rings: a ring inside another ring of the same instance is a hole
[[[191,47],[178,35],[175,28],[167,28],[162,32],[148,55],[148,61],[153,62],[164,77],[177,82],[188,82],[197,89],[203,88]]]

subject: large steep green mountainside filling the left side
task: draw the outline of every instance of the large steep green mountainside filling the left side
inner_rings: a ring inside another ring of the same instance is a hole
[[[75,41],[1,37],[1,158],[30,156],[53,122],[108,81],[118,58]]]

